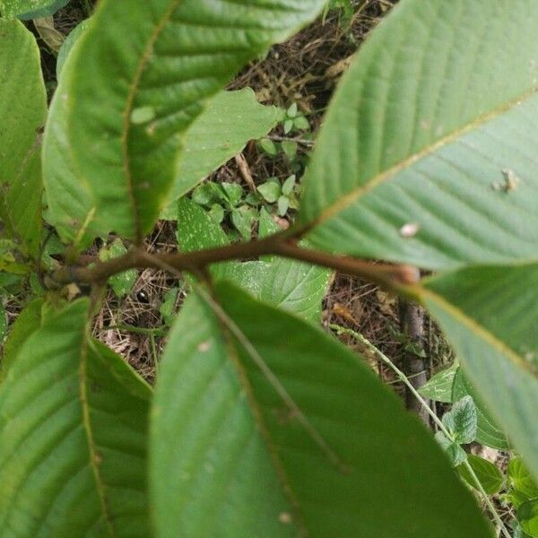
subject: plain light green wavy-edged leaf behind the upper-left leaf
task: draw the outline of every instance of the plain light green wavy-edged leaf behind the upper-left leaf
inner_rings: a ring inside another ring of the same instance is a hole
[[[267,134],[277,121],[278,108],[260,105],[250,88],[218,93],[187,132],[170,199],[187,194],[249,140]]]

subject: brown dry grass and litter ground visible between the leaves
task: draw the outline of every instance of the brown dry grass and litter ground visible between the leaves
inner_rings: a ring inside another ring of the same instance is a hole
[[[343,9],[325,13],[292,39],[274,46],[265,58],[247,65],[230,82],[229,89],[250,87],[260,102],[282,108],[296,103],[299,112],[308,118],[311,133],[304,140],[300,134],[294,135],[294,140],[299,143],[299,157],[308,158],[325,109],[337,82],[350,64],[351,56],[396,2],[353,1],[352,13],[346,13]],[[88,16],[92,4],[91,0],[73,0],[56,13],[54,29],[67,35]],[[56,55],[43,39],[39,39],[39,43],[48,89],[52,94],[56,86]],[[269,134],[269,138],[272,137],[275,140],[285,137],[282,126]],[[254,141],[247,145],[243,157],[243,163],[256,184],[273,176],[286,178],[293,172],[300,179],[304,171],[304,168],[291,170],[290,161],[284,155],[276,159],[268,157]],[[238,161],[231,160],[215,171],[211,178],[216,181],[244,182],[244,175],[245,171],[239,169]],[[286,225],[286,221],[293,218],[291,211],[281,224]],[[160,221],[147,240],[147,247],[150,250],[176,249],[174,223]],[[98,248],[99,245],[96,245],[92,254],[96,254]],[[180,292],[173,305],[176,309],[184,297],[181,283],[163,272],[142,271],[138,273],[132,291],[124,299],[117,299],[112,291],[108,292],[104,307],[97,317],[96,335],[125,357],[150,382],[154,379],[157,360],[165,344],[162,305],[169,297],[169,291],[178,287]],[[422,347],[430,377],[432,371],[450,363],[452,357],[437,328],[428,319],[425,324]],[[396,363],[404,356],[406,342],[400,329],[398,299],[372,283],[346,275],[334,275],[324,301],[323,325],[327,330],[340,325],[363,334]],[[372,369],[387,384],[395,386],[398,392],[402,391],[392,371],[375,360],[360,343],[346,334],[339,337],[343,343],[366,356]]]

